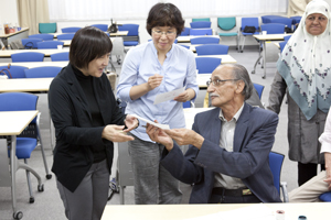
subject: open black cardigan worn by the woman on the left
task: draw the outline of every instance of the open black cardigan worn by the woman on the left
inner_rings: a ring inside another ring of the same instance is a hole
[[[124,125],[126,118],[118,108],[105,74],[99,78],[92,77],[92,87],[102,114],[102,127],[94,127],[88,99],[71,64],[53,79],[49,90],[56,135],[52,172],[71,191],[77,188],[94,163],[95,146],[105,145],[108,167],[111,168],[114,143],[103,139],[102,133],[106,124]]]

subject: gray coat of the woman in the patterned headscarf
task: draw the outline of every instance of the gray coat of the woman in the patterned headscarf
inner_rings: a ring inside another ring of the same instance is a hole
[[[307,121],[296,101],[289,96],[286,81],[278,72],[271,84],[269,106],[267,109],[279,113],[285,94],[287,94],[288,100],[287,136],[289,143],[289,158],[305,164],[323,164],[324,156],[320,154],[321,144],[318,139],[324,131],[328,114],[318,110],[318,112]]]

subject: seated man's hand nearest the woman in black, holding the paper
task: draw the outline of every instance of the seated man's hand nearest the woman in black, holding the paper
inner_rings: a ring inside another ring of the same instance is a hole
[[[158,121],[156,120],[156,122]],[[173,141],[162,129],[148,123],[146,133],[149,135],[150,140],[163,144],[168,151],[172,150]]]

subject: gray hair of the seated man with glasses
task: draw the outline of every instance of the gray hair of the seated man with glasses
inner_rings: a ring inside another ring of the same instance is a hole
[[[245,87],[242,91],[242,95],[245,97],[245,100],[249,99],[249,97],[252,96],[254,86],[253,86],[253,82],[250,80],[247,69],[243,65],[239,65],[239,64],[222,64],[222,65],[220,65],[220,67],[222,67],[222,66],[232,67],[233,78],[244,81]]]

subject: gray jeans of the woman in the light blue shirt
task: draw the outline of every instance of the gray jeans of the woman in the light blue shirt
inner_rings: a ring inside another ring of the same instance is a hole
[[[128,145],[134,172],[135,202],[180,204],[180,182],[160,165],[164,146],[142,141],[137,136]]]

